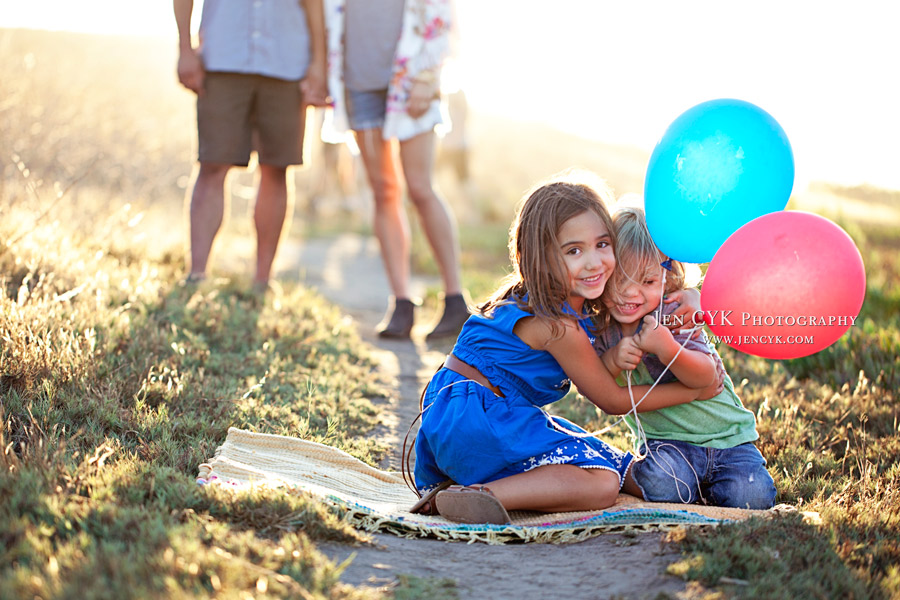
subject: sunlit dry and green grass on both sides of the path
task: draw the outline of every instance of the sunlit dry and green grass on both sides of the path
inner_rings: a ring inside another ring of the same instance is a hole
[[[193,109],[174,64],[174,44],[0,31],[0,596],[451,596],[447,582],[414,577],[387,592],[342,584],[316,543],[365,540],[303,494],[196,484],[229,426],[374,464],[388,449],[369,437],[373,401],[388,392],[353,324],[301,285],[262,298],[245,270],[225,267],[221,281],[178,284],[183,231],[172,224]],[[579,164],[634,191],[640,157],[622,166],[624,155],[583,140],[476,124],[477,214],[460,235],[479,300],[508,268],[506,229],[525,189]],[[544,156],[534,139],[565,152]],[[497,140],[512,140],[509,151]],[[294,175],[302,190],[310,172]],[[829,193],[897,212],[896,192]],[[245,211],[238,194],[225,244],[248,238]],[[857,326],[802,359],[720,349],[758,416],[778,502],[798,511],[673,535],[683,556],[671,572],[698,594],[900,598],[900,228],[839,217],[867,270]],[[342,225],[298,216],[292,233]],[[415,243],[415,268],[435,274]],[[554,412],[611,422],[574,394]],[[606,438],[631,445],[622,425]]]

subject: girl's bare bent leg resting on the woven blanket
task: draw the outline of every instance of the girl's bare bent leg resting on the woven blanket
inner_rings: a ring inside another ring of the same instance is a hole
[[[485,485],[506,510],[601,510],[619,495],[617,473],[575,465],[544,465]]]

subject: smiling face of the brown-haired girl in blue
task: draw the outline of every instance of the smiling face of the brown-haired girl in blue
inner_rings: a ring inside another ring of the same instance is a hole
[[[569,304],[580,309],[585,299],[599,298],[616,268],[612,239],[592,211],[572,217],[559,228],[569,278]]]

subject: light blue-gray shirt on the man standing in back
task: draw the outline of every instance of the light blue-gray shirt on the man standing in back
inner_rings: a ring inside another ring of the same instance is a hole
[[[302,79],[309,30],[301,0],[204,0],[200,52],[207,71]]]

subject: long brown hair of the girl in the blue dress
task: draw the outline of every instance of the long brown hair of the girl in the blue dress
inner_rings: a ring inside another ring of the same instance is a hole
[[[569,278],[558,234],[563,224],[584,212],[593,212],[609,231],[615,231],[607,204],[614,200],[606,183],[551,180],[538,185],[521,202],[509,231],[509,258],[513,272],[481,307],[489,313],[498,304],[515,301],[529,312],[558,320],[566,315]],[[599,312],[598,300],[586,300],[588,314]]]

